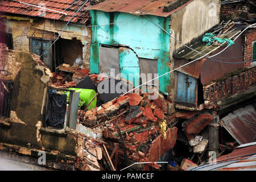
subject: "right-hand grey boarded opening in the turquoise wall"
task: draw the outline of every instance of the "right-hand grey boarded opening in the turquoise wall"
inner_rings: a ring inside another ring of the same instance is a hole
[[[141,67],[141,82],[150,81],[157,77],[158,73],[158,60],[139,58]],[[144,76],[143,76],[144,75]],[[146,78],[145,78],[146,76]],[[158,85],[158,79],[148,82],[146,85]]]

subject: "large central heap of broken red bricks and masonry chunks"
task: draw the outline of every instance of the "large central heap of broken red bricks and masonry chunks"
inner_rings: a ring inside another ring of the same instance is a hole
[[[127,93],[95,109],[79,110],[79,122],[101,130],[106,147],[121,157],[136,162],[157,161],[175,146],[177,128],[172,126],[172,103],[153,87],[151,91],[142,93],[140,89],[139,93]]]

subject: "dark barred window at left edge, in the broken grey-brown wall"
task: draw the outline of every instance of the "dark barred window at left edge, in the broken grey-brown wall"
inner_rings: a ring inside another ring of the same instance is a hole
[[[0,80],[0,117],[10,117],[13,82]]]

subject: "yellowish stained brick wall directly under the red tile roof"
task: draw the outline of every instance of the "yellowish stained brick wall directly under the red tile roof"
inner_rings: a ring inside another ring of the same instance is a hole
[[[14,50],[25,52],[30,52],[30,38],[43,37],[44,39],[50,39],[53,41],[57,38],[66,24],[65,22],[57,20],[55,21],[55,24],[53,24],[53,20],[48,19],[16,19],[14,19],[13,16],[6,16],[5,32],[13,34]],[[91,28],[81,24],[70,23],[60,37],[69,40],[76,38],[81,41],[84,65],[89,68],[89,45],[92,40]]]

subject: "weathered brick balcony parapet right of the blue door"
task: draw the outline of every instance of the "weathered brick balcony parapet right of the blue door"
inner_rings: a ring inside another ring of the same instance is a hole
[[[204,86],[204,100],[218,101],[224,97],[232,96],[242,90],[256,85],[256,67],[247,69],[237,75],[230,76],[222,81]]]

